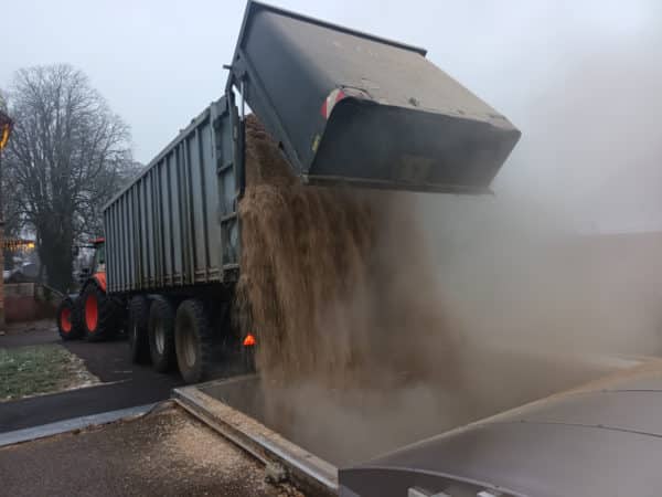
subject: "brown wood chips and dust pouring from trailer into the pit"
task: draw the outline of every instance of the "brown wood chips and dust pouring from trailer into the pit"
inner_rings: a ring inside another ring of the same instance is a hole
[[[348,464],[605,372],[477,339],[500,321],[467,319],[477,309],[439,277],[427,197],[305,187],[255,118],[246,128],[237,314],[258,336],[268,425]]]

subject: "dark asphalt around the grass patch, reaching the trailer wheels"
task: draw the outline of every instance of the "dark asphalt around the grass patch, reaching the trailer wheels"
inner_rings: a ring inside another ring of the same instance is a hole
[[[38,329],[0,336],[0,347],[60,342],[57,331]],[[0,403],[0,433],[168,399],[182,384],[178,373],[159,374],[149,364],[132,364],[126,340],[66,342],[87,369],[106,384]]]

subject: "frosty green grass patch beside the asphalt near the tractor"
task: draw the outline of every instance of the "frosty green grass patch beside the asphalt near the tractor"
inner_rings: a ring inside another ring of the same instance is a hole
[[[0,402],[96,382],[83,360],[62,346],[0,349]]]

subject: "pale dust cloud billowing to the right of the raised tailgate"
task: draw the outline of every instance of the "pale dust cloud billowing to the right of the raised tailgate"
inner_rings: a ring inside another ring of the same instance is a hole
[[[546,78],[515,82],[523,137],[494,197],[419,197],[468,339],[660,352],[662,38],[624,23],[586,27]]]

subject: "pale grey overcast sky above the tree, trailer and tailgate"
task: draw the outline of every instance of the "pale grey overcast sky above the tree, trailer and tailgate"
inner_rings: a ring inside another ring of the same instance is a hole
[[[0,87],[68,62],[131,126],[147,162],[221,96],[243,0],[7,2]],[[597,230],[662,228],[662,9],[645,1],[278,0],[428,49],[519,125],[498,192],[548,201]]]

